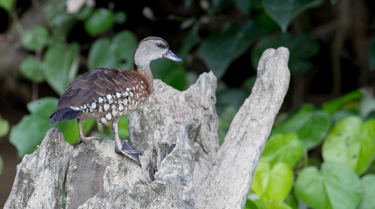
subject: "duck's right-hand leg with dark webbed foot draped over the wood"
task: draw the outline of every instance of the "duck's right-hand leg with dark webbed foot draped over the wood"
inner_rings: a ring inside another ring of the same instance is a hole
[[[118,136],[118,119],[114,119],[112,121],[112,131],[113,131],[113,137],[115,138],[115,151],[117,153],[123,153],[130,159],[133,159],[135,162],[137,162],[139,165],[141,165],[141,161],[139,161],[139,152],[137,149],[135,149],[133,146],[131,146],[129,143],[127,143],[127,140],[123,140],[122,138]]]

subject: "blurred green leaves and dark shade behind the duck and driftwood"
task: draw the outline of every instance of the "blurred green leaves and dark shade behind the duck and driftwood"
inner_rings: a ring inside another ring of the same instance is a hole
[[[375,208],[374,1],[0,0],[0,20],[0,206],[66,86],[131,69],[138,42],[159,36],[184,63],[155,60],[154,78],[184,90],[216,75],[220,144],[263,51],[290,50],[290,88],[245,208]],[[77,144],[75,121],[54,127]],[[126,119],[119,128],[128,137]],[[95,120],[84,129],[112,138]]]

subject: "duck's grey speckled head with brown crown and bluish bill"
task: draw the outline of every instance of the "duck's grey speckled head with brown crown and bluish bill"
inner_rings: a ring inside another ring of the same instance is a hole
[[[135,66],[149,66],[152,60],[162,57],[183,62],[169,49],[169,45],[164,39],[151,36],[139,42],[133,54],[133,63]]]

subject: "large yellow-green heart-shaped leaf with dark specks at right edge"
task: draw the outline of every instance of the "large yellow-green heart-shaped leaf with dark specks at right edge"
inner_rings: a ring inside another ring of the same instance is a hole
[[[336,123],[323,143],[322,156],[324,161],[347,164],[357,174],[365,172],[375,156],[375,119],[363,123],[350,116]]]

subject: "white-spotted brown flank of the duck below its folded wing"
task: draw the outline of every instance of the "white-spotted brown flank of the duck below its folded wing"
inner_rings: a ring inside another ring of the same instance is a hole
[[[123,117],[141,107],[150,96],[151,91],[141,80],[132,87],[121,92],[101,96],[90,104],[80,107],[79,119],[100,118],[99,122],[106,124],[113,119]]]

